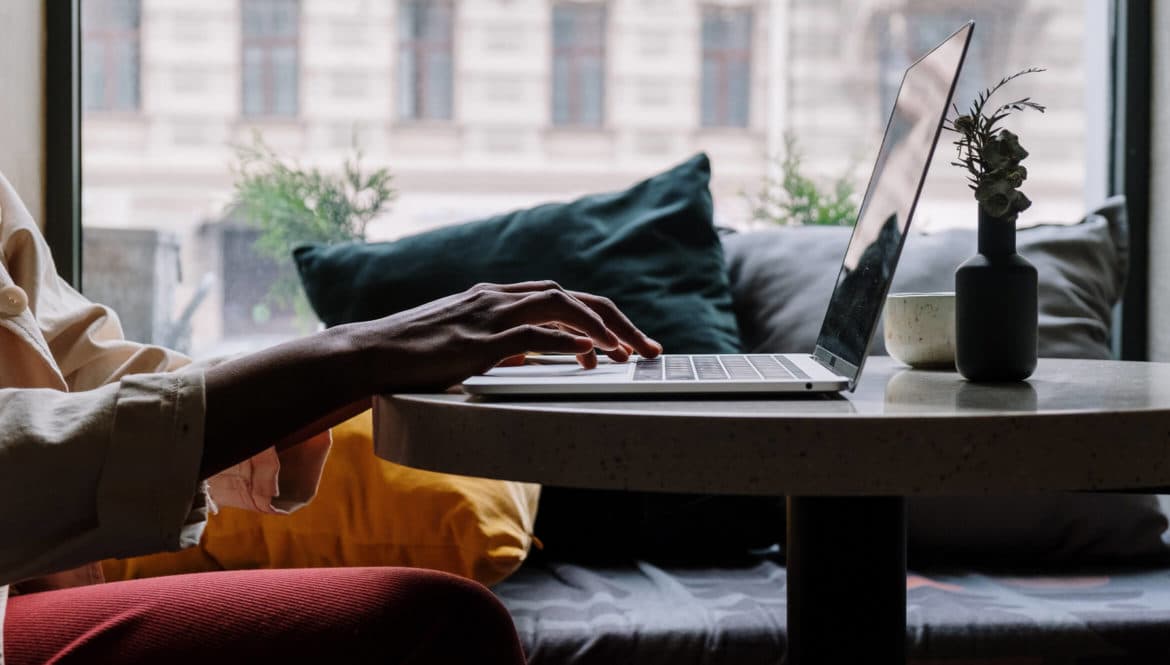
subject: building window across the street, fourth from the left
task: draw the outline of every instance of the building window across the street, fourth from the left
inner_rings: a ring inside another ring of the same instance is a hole
[[[605,121],[605,6],[552,7],[552,124]]]

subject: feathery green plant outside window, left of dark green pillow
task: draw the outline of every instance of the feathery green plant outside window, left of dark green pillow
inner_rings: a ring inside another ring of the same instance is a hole
[[[366,172],[357,148],[339,173],[303,167],[281,158],[256,133],[250,145],[236,146],[235,184],[229,204],[236,215],[260,233],[257,256],[277,266],[277,276],[253,320],[263,323],[273,308],[292,308],[298,327],[316,321],[292,265],[292,248],[307,242],[365,241],[366,226],[388,211],[398,192],[387,169]]]

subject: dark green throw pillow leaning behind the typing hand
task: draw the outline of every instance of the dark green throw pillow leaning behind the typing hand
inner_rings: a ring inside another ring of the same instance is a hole
[[[739,351],[710,163],[696,155],[615,193],[548,204],[393,242],[294,252],[328,325],[378,318],[477,282],[556,280],[612,299],[669,352]]]

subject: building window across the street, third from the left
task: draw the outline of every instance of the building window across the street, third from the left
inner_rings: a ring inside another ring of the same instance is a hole
[[[450,0],[402,0],[398,18],[398,116],[449,121],[454,98]]]

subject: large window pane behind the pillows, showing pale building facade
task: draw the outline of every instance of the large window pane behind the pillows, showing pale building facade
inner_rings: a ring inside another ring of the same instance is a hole
[[[355,146],[365,173],[388,167],[398,197],[370,240],[613,191],[697,151],[716,220],[758,227],[751,198],[786,137],[825,192],[865,186],[902,69],[972,12],[958,101],[1048,68],[1005,91],[1048,105],[1009,123],[1031,152],[1020,221],[1073,221],[1104,158],[1090,5],[83,0],[84,282],[131,336],[197,355],[311,329],[303,302],[271,295],[288,256],[232,205],[254,132],[294,169],[338,176]],[[943,140],[917,229],[975,224]]]

